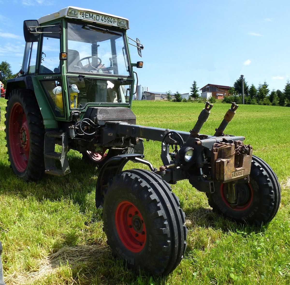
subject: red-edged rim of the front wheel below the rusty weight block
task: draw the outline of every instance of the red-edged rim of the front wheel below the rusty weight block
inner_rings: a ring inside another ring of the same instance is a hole
[[[228,199],[226,197],[226,187],[227,183],[222,183],[220,186],[220,194],[222,196],[222,199],[224,203],[229,206],[231,209],[235,211],[243,211],[249,208],[253,201],[253,190],[250,183],[237,183],[234,185],[235,187],[238,187],[237,191],[240,195],[242,195],[242,198],[240,199],[239,203],[237,205],[232,205],[228,202]],[[239,195],[238,194],[238,195]]]

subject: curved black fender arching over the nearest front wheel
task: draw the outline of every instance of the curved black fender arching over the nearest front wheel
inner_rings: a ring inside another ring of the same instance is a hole
[[[143,154],[121,154],[118,156],[114,156],[106,161],[103,167],[100,170],[97,186],[96,186],[96,207],[102,208],[104,203],[103,190],[106,187],[107,183],[119,172],[122,171],[125,164],[129,161],[135,161],[139,163],[146,164],[151,171],[153,171],[153,166],[144,158]]]

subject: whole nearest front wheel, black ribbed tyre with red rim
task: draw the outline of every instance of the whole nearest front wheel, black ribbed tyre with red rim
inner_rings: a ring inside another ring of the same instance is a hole
[[[160,176],[130,169],[104,192],[104,231],[113,254],[137,274],[167,275],[186,249],[185,215]]]

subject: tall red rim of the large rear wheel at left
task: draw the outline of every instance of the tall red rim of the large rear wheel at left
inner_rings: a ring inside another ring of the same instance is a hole
[[[15,167],[19,172],[24,172],[29,159],[29,129],[27,118],[19,103],[15,103],[11,108],[9,147]]]

